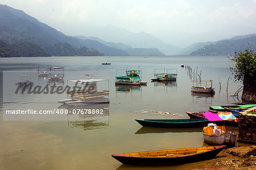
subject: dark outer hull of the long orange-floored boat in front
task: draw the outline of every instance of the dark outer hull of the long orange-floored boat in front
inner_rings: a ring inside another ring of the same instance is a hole
[[[165,165],[165,164],[184,164],[191,162],[199,162],[201,160],[213,159],[226,146],[214,146],[213,150],[200,152],[185,156],[175,157],[139,157],[139,156],[125,156],[123,154],[112,155],[123,164],[143,164],[143,165]]]

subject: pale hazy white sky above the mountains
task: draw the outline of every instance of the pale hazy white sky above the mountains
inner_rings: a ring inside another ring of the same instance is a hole
[[[184,46],[193,41],[256,33],[256,0],[0,0],[0,3],[23,10],[66,35],[97,36],[86,29],[113,25]]]

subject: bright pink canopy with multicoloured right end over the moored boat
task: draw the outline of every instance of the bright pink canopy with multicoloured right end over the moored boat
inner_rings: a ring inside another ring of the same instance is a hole
[[[202,113],[209,121],[223,121],[223,120],[238,120],[238,118],[234,117],[232,112],[205,112]]]

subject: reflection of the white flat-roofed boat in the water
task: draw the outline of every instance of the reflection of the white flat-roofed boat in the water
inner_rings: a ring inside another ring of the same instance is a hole
[[[109,103],[73,106],[61,105],[58,109],[67,109],[68,126],[92,130],[109,126]]]

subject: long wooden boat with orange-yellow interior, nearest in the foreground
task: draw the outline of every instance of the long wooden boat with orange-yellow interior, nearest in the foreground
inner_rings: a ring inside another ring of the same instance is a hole
[[[226,146],[207,146],[192,148],[177,148],[171,150],[133,152],[127,154],[112,155],[123,164],[184,164],[199,162],[201,160],[213,159]]]

